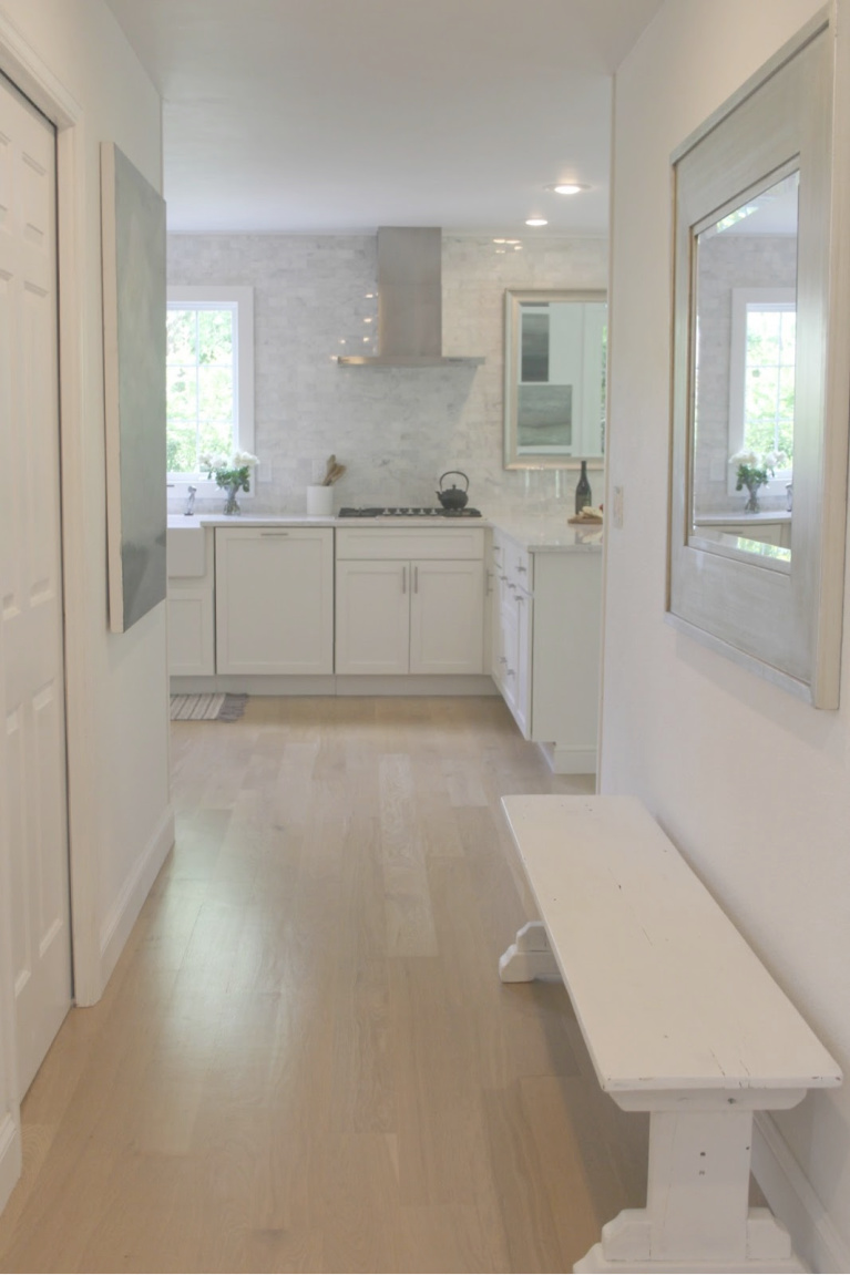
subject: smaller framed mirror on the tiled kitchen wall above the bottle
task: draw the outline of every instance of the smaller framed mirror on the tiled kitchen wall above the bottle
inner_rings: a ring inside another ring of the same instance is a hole
[[[601,468],[606,361],[604,291],[505,292],[505,469]]]

